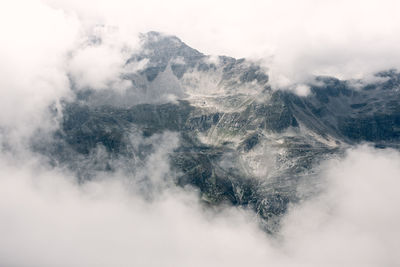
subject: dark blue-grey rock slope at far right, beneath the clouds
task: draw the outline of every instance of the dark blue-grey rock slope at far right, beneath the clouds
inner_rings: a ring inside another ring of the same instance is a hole
[[[377,74],[382,76],[383,74]],[[330,134],[350,144],[385,143],[397,147],[400,141],[400,74],[390,72],[386,81],[351,89],[346,81],[320,78],[306,98],[288,96],[300,121],[319,134]],[[390,85],[390,86],[389,86]]]

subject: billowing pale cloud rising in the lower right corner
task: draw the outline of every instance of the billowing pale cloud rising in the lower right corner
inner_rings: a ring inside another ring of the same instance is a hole
[[[325,168],[325,192],[286,218],[286,251],[299,266],[399,265],[399,152],[362,146]]]

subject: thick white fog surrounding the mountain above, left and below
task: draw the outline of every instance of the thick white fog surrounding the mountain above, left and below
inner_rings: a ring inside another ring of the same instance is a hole
[[[399,8],[398,1],[3,1],[0,266],[400,265],[394,150],[361,145],[318,166],[321,193],[291,206],[269,235],[251,211],[205,209],[195,189],[165,182],[175,175],[172,133],[158,137],[159,149],[135,173],[150,177],[152,197],[124,171],[79,183],[29,147],[39,129],[58,127],[59,101],[73,97],[72,87],[126,88],[121,74],[143,67],[125,65],[139,32],[260,60],[274,86],[289,86],[310,73],[359,78],[398,67]]]

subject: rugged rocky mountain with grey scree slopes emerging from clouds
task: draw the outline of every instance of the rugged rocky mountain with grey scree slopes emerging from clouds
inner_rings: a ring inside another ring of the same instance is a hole
[[[210,206],[250,208],[275,232],[289,204],[318,190],[319,162],[362,142],[399,148],[395,70],[370,83],[315,77],[310,94],[298,96],[272,90],[266,70],[252,61],[207,56],[157,32],[141,38],[126,66],[144,67],[123,74],[131,84],[125,92],[75,89],[50,141],[32,141],[82,182],[121,169],[138,177],[173,133],[173,175],[165,180],[199,190]],[[140,182],[152,186],[146,175]]]

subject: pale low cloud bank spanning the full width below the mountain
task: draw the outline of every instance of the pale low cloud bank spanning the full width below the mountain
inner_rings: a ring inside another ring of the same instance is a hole
[[[0,161],[4,266],[397,266],[400,154],[361,146],[323,166],[323,192],[293,206],[278,236],[250,211],[205,210],[193,191],[152,201],[133,177],[72,174],[27,157]]]

